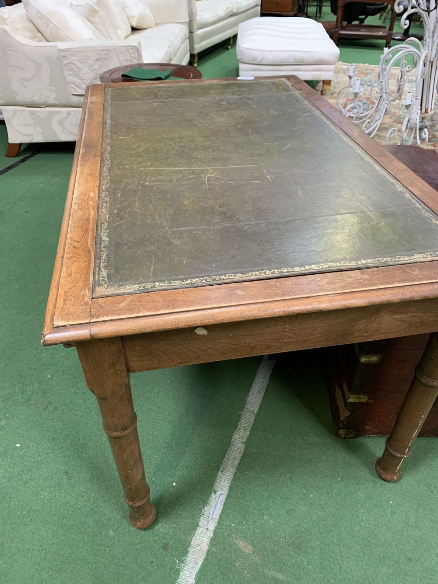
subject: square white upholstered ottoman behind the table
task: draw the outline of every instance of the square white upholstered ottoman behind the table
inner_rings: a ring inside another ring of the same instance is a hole
[[[339,48],[321,23],[310,18],[252,18],[239,25],[237,58],[241,77],[297,75],[330,87]]]

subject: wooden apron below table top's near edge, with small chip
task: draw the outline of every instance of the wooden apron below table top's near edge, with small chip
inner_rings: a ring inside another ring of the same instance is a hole
[[[201,329],[199,329],[202,327]],[[149,371],[267,353],[438,331],[438,298],[129,335],[128,371]]]

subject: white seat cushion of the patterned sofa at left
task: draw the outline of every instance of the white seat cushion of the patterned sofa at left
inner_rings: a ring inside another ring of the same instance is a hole
[[[143,62],[165,63],[173,61],[188,37],[187,25],[173,24],[156,26],[153,29],[133,30],[128,39],[140,41]]]

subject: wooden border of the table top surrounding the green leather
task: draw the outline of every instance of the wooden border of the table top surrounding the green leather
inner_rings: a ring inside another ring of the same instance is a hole
[[[159,91],[161,86],[175,83],[196,86],[215,84],[217,81],[161,81],[155,82],[154,86]],[[429,185],[389,152],[385,152],[304,82],[290,77],[287,78],[287,83],[300,89],[324,116],[349,135],[378,164],[384,166],[386,171],[400,180],[433,211],[438,211],[436,193]],[[138,85],[112,84],[112,88]],[[75,152],[47,305],[43,344],[75,343],[91,338],[165,331],[202,323],[238,322],[311,311],[322,313],[366,304],[397,304],[437,296],[437,262],[425,261],[92,298],[103,87],[91,87],[88,105],[83,111],[82,131]],[[187,91],[192,91],[189,86]],[[405,334],[409,334],[409,331]]]

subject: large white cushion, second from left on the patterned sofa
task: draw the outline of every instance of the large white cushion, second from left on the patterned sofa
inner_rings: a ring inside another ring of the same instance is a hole
[[[23,0],[27,16],[50,42],[105,40],[88,20],[61,0]]]

